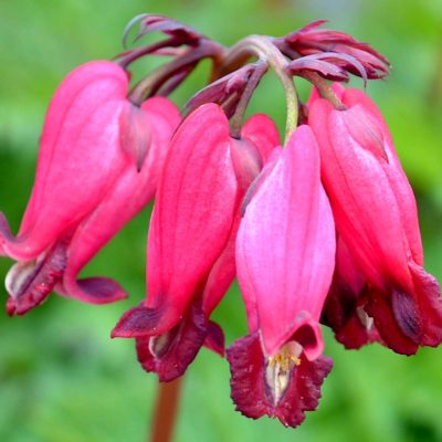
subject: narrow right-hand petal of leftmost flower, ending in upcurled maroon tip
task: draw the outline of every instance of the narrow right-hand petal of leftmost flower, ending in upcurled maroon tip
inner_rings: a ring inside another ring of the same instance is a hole
[[[152,199],[171,135],[179,124],[177,107],[166,98],[150,98],[141,107],[151,139],[141,170],[137,171],[135,161],[127,164],[115,187],[76,230],[70,245],[63,291],[85,302],[102,303],[125,297],[125,292],[112,280],[77,282],[76,277],[84,265]]]

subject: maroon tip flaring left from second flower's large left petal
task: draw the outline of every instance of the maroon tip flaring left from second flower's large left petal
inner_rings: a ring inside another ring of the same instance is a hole
[[[127,311],[110,333],[112,338],[138,338],[158,334],[162,317],[161,309],[148,308],[143,304]]]

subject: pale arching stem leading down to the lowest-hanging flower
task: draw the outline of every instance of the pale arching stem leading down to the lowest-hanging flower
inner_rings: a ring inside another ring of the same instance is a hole
[[[287,62],[280,50],[273,44],[271,38],[264,35],[250,35],[239,41],[228,51],[219,75],[221,76],[232,72],[244,64],[252,55],[256,55],[260,60],[271,66],[284,87],[287,112],[285,124],[286,143],[297,126],[298,98],[293,80],[285,71]]]

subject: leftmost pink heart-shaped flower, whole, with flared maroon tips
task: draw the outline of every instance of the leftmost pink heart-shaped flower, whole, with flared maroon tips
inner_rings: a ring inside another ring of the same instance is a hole
[[[123,69],[97,61],[74,70],[56,91],[17,238],[1,219],[1,253],[18,261],[7,276],[9,314],[24,314],[55,286],[90,303],[126,296],[112,280],[76,276],[152,198],[179,123],[170,102],[152,98],[138,108],[127,88]]]

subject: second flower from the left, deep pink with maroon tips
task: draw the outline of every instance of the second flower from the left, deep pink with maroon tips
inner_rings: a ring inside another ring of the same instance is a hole
[[[277,144],[263,115],[232,138],[214,104],[190,114],[172,138],[149,228],[148,296],[113,332],[136,338],[139,361],[161,381],[182,375],[204,341],[223,354],[209,316],[235,275],[240,206]]]

